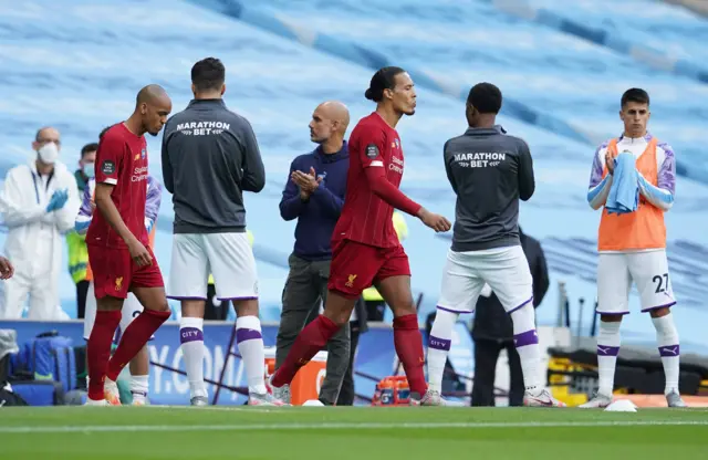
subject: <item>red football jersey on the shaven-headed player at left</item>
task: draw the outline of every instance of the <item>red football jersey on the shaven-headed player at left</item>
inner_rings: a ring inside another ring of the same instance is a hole
[[[147,143],[145,137],[131,133],[123,124],[111,127],[98,144],[96,153],[96,184],[113,187],[111,198],[121,218],[133,234],[147,247],[145,200],[147,196]],[[126,248],[101,211],[94,212],[86,244]]]

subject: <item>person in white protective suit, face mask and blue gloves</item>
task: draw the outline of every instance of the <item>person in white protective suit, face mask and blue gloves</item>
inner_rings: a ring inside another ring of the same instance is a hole
[[[10,169],[0,192],[0,213],[8,227],[6,255],[14,276],[3,283],[0,318],[19,318],[29,297],[29,317],[61,317],[59,274],[62,234],[79,212],[76,180],[59,160],[61,139],[53,127],[37,132],[29,164]]]

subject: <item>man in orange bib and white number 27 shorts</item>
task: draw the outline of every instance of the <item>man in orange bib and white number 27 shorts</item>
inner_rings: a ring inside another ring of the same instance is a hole
[[[671,147],[652,136],[649,95],[631,88],[622,96],[620,118],[624,133],[603,143],[593,159],[587,202],[593,209],[605,206],[618,153],[636,157],[639,200],[636,211],[610,213],[603,209],[597,250],[597,394],[581,407],[602,408],[612,402],[615,364],[620,352],[620,324],[629,313],[632,283],[642,300],[642,312],[648,312],[656,327],[659,355],[666,377],[666,401],[669,407],[686,407],[678,391],[678,333],[670,307],[676,304],[666,259],[664,212],[674,203],[676,159]]]

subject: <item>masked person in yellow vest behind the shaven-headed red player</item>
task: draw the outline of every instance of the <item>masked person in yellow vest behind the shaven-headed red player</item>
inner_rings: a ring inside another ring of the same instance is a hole
[[[98,144],[96,143],[86,144],[81,149],[79,169],[74,171],[80,197],[83,196],[86,185],[94,177],[94,163],[96,161],[97,150]],[[66,234],[66,244],[69,245],[69,273],[74,280],[74,284],[76,284],[76,317],[82,320],[86,312],[86,292],[90,284],[86,276],[88,263],[86,237],[76,231],[71,231]]]

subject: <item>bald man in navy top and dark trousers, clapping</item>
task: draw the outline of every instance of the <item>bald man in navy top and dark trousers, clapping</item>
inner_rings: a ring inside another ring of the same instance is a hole
[[[324,303],[332,262],[330,240],[344,195],[350,155],[344,135],[350,113],[340,102],[320,104],[310,122],[310,139],[319,144],[314,151],[296,157],[280,201],[284,220],[298,219],[295,247],[290,255],[290,273],[283,289],[283,307],[278,328],[275,369],[285,360],[290,347],[305,326],[308,316]],[[350,327],[342,327],[327,346],[327,368],[320,401],[336,402],[350,358]],[[290,387],[275,397],[290,402]]]

